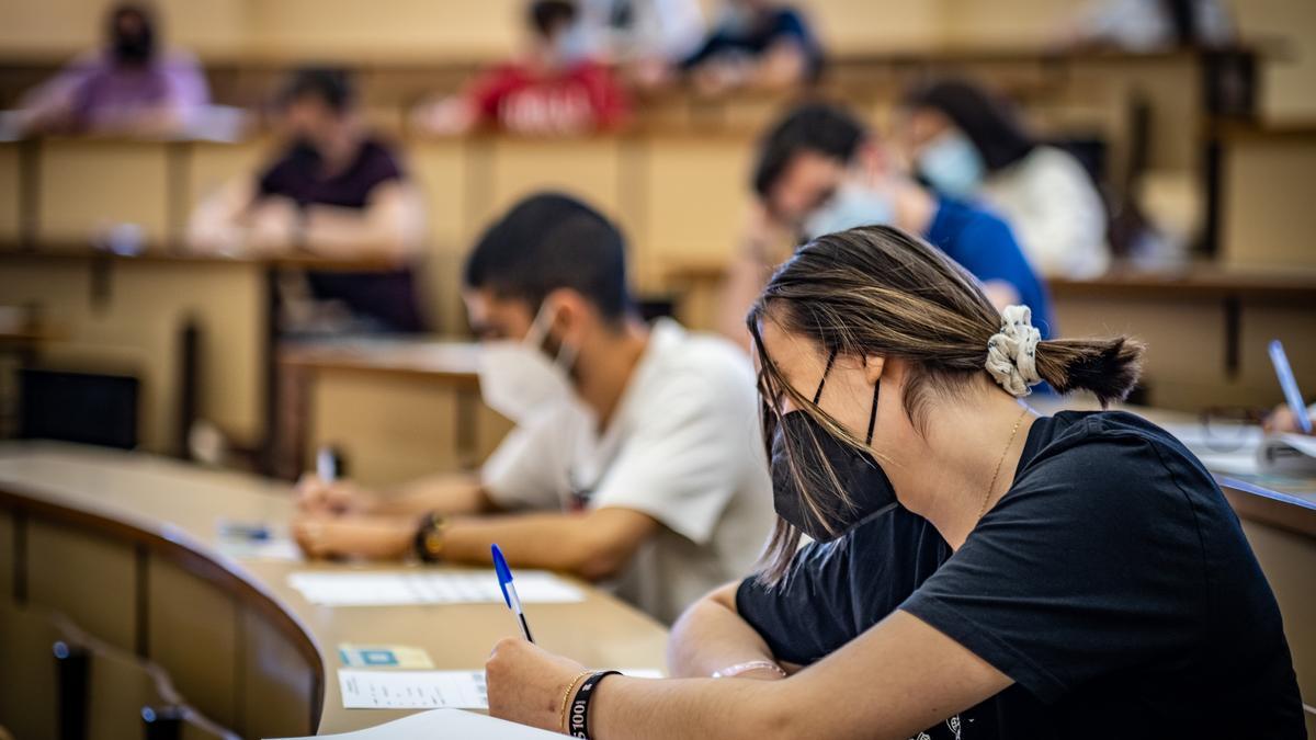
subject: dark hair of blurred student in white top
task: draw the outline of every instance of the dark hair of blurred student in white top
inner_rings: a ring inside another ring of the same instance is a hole
[[[1004,100],[971,82],[934,82],[911,92],[905,101],[911,108],[930,108],[950,119],[973,142],[990,172],[1019,162],[1037,146]]]

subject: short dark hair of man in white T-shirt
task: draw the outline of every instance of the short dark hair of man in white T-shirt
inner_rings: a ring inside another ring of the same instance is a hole
[[[532,312],[558,288],[579,292],[609,321],[634,311],[621,230],[559,192],[532,195],[490,226],[466,259],[463,280],[522,300]]]

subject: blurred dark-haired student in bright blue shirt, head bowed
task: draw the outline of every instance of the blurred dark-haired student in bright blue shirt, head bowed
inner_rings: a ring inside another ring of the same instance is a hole
[[[921,234],[982,280],[994,305],[1028,305],[1042,336],[1054,330],[1050,296],[1009,226],[920,186],[895,150],[842,108],[801,105],[772,126],[759,145],[754,192],[758,203],[719,317],[720,329],[744,346],[745,312],[788,248],[873,224]]]

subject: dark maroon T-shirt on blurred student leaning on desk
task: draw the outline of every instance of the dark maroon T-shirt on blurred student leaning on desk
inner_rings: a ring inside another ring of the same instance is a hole
[[[258,180],[258,194],[283,196],[297,205],[366,208],[374,190],[405,179],[393,153],[382,142],[366,140],[353,163],[324,176],[320,154],[292,146]],[[321,300],[341,300],[353,312],[368,316],[383,329],[422,332],[416,280],[409,267],[378,273],[307,273],[311,292]]]

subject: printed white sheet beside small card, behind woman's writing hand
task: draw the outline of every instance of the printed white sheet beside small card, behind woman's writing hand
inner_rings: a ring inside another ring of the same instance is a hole
[[[625,669],[633,678],[662,678],[654,669]],[[487,710],[483,670],[338,669],[338,689],[347,710]]]

